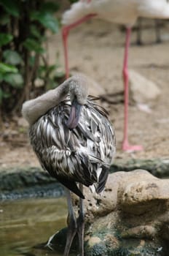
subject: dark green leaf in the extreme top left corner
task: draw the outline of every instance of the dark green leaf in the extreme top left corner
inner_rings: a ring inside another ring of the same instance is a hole
[[[19,1],[17,0],[1,0],[0,4],[10,15],[18,17],[20,15]]]

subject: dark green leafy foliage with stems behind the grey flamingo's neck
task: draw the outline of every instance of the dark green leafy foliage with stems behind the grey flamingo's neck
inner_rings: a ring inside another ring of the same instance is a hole
[[[0,0],[0,118],[17,112],[30,95],[58,85],[58,61],[49,65],[46,31],[57,33],[60,1]],[[43,83],[37,86],[37,81]]]

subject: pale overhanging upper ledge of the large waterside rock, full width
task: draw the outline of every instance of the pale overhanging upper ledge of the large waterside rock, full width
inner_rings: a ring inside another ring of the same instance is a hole
[[[109,175],[103,195],[93,195],[86,187],[84,194],[87,222],[109,214],[119,205],[127,214],[144,214],[166,200],[169,203],[169,179],[156,178],[146,170],[118,172]]]

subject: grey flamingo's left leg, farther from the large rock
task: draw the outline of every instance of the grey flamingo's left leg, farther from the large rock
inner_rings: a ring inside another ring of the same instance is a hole
[[[68,203],[68,232],[66,237],[66,246],[63,254],[64,256],[68,256],[69,251],[71,249],[71,244],[77,232],[76,217],[74,214],[74,208],[72,205],[71,193],[69,189],[66,189],[66,197],[67,197],[67,203]]]

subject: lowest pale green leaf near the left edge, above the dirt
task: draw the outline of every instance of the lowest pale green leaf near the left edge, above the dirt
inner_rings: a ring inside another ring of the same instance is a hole
[[[14,88],[22,88],[23,87],[23,76],[19,73],[13,74],[8,73],[4,76],[4,81],[9,83]]]

